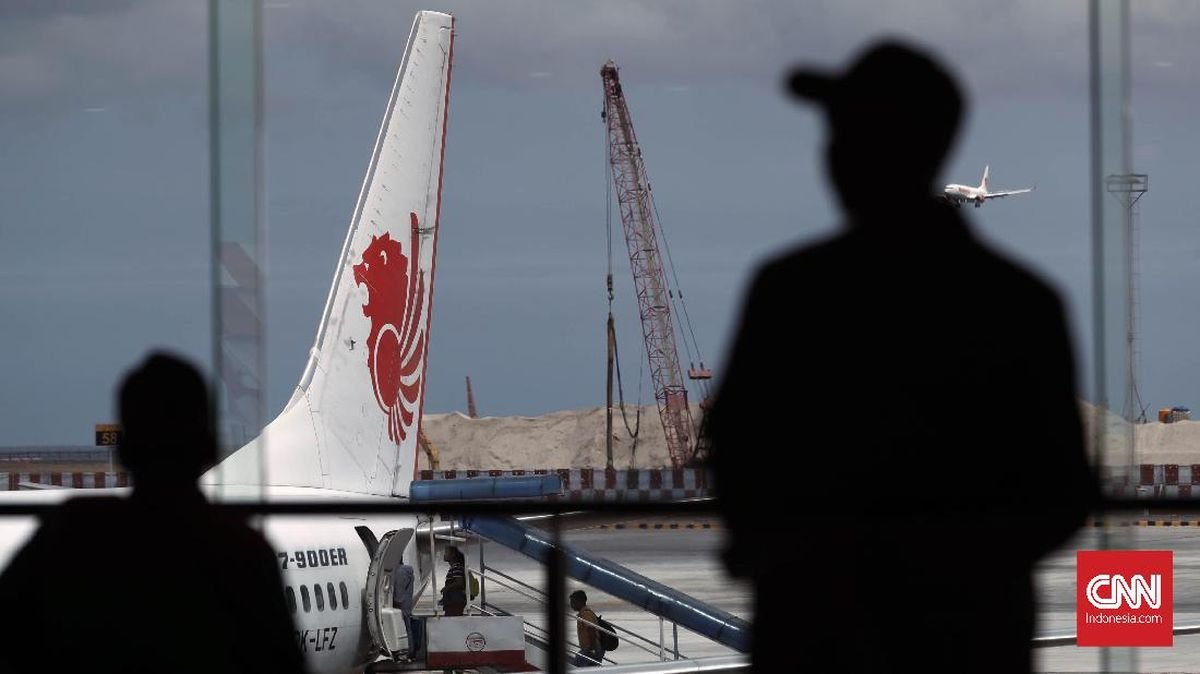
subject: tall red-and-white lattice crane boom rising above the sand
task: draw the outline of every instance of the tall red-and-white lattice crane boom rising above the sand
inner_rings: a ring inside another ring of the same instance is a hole
[[[694,444],[695,426],[688,404],[688,386],[679,366],[674,323],[671,315],[671,305],[676,296],[667,284],[664,259],[659,252],[658,233],[661,225],[654,207],[650,182],[646,175],[646,164],[642,162],[642,150],[634,133],[629,106],[620,89],[617,64],[606,62],[600,68],[600,78],[604,80],[601,118],[608,132],[612,188],[617,194],[625,245],[629,249],[629,265],[634,272],[642,337],[646,343],[650,379],[654,383],[654,398],[658,402],[662,431],[666,433],[671,463],[674,468],[680,468],[703,458],[704,449]],[[679,301],[682,300],[680,294]],[[610,348],[610,355],[611,353]],[[692,380],[712,379],[712,372],[704,367],[703,361],[700,367],[689,367],[688,374]],[[611,379],[610,375],[610,381]],[[610,403],[610,411],[611,408]]]

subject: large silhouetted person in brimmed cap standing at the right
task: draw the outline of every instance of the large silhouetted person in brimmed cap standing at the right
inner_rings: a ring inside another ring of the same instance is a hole
[[[920,50],[791,73],[845,229],[757,270],[712,411],[757,672],[1028,672],[1032,567],[1097,504],[1063,307],[934,180],[964,108]]]

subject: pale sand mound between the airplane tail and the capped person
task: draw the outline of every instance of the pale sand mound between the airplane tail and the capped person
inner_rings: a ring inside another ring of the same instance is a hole
[[[637,429],[637,408],[626,407],[629,425]],[[700,410],[694,409],[700,422]],[[671,465],[658,408],[642,408],[636,451],[620,411],[613,413],[613,468],[666,468]],[[443,469],[604,468],[605,408],[557,411],[545,416],[485,416],[460,413],[427,414],[424,429],[438,449]],[[418,462],[428,468],[425,456]]]

